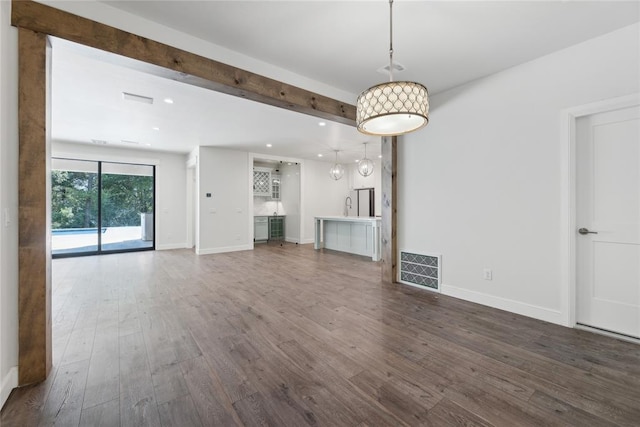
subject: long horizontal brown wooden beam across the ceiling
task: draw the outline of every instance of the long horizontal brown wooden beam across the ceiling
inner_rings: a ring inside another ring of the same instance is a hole
[[[13,0],[11,6],[13,26],[155,65],[144,66],[144,71],[151,74],[355,126],[353,105],[41,3]]]

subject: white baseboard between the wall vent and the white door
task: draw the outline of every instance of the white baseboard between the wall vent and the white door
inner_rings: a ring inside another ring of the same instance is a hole
[[[442,284],[442,293],[465,301],[475,302],[500,310],[509,311],[511,313],[521,314],[523,316],[532,317],[545,322],[555,323],[557,325],[566,326],[562,312],[559,310],[551,310],[549,308],[537,305],[527,304],[507,298],[487,295],[481,292],[474,292],[468,289],[462,289],[455,286]]]

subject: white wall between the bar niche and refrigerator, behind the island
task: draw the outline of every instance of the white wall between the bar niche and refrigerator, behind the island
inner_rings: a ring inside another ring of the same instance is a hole
[[[335,181],[329,176],[332,163],[304,160],[302,162],[302,243],[312,243],[315,236],[314,217],[343,215],[349,195],[349,180],[343,176]]]

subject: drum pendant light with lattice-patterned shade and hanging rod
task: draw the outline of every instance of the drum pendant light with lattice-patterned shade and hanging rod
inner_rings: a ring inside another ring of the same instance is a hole
[[[368,135],[393,136],[429,123],[429,93],[416,82],[393,81],[393,0],[389,0],[389,82],[365,90],[356,102],[356,125]]]

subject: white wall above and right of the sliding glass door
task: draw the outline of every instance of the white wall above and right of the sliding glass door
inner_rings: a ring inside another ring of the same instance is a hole
[[[187,247],[185,154],[54,141],[53,157],[131,162],[156,166],[156,249]]]

